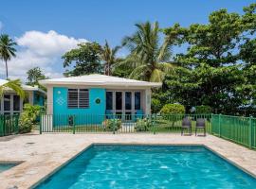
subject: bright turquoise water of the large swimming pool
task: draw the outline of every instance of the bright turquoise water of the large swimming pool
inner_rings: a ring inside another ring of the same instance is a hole
[[[36,188],[256,188],[204,146],[89,147]]]

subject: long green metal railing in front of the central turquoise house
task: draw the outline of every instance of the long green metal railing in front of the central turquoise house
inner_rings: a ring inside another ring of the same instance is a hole
[[[54,114],[41,115],[42,132],[180,132],[182,119],[192,120],[192,130],[198,118],[206,120],[206,129],[211,130],[211,114],[129,114],[129,115],[89,115],[89,114]]]

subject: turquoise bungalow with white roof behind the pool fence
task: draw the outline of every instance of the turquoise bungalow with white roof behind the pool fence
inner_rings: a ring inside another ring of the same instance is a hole
[[[47,89],[47,114],[81,117],[113,114],[126,120],[135,114],[150,114],[151,89],[161,86],[161,83],[97,74],[39,82]],[[91,122],[100,121],[95,118]],[[82,121],[77,119],[77,122]]]

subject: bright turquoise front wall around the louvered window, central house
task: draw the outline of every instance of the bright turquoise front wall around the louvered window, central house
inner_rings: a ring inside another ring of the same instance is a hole
[[[89,89],[89,108],[88,109],[69,109],[67,107],[66,87],[53,88],[53,125],[67,126],[68,117],[74,116],[76,126],[101,124],[105,114],[105,89]],[[101,103],[97,104],[96,99],[100,98]]]

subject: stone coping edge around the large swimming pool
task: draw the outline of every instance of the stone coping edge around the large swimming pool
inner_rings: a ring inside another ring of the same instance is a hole
[[[256,174],[250,172],[249,170],[247,170],[246,168],[242,167],[241,165],[239,165],[238,163],[234,163],[233,161],[229,160],[229,158],[225,157],[224,155],[220,154],[219,152],[217,152],[216,150],[212,149],[210,146],[207,146],[205,144],[147,144],[147,143],[91,143],[90,145],[86,146],[85,148],[83,148],[80,152],[78,152],[77,154],[75,154],[74,156],[72,156],[70,159],[68,159],[67,161],[65,161],[64,163],[62,163],[60,166],[56,167],[55,169],[53,169],[50,173],[46,174],[45,177],[43,177],[40,180],[37,180],[34,184],[32,184],[29,189],[34,189],[35,187],[39,186],[41,183],[43,183],[45,180],[47,180],[49,177],[51,177],[52,175],[54,175],[55,173],[57,173],[59,170],[61,170],[66,164],[71,163],[74,159],[76,159],[78,156],[80,156],[84,151],[86,151],[87,149],[89,149],[91,146],[203,146],[206,149],[210,150],[211,153],[213,153],[214,155],[218,156],[219,158],[223,159],[224,161],[227,161],[228,163],[230,163],[231,165],[235,166],[238,169],[241,169],[241,171],[245,172],[246,174],[248,174],[249,176],[251,176],[252,178],[254,178],[256,180]]]

